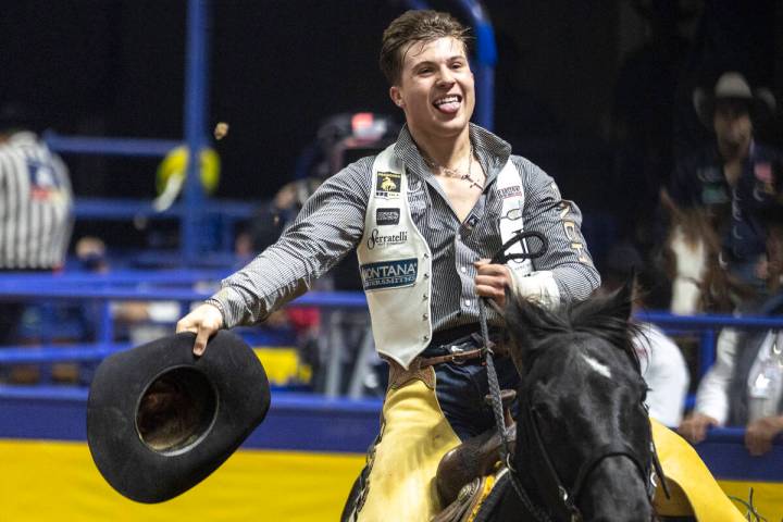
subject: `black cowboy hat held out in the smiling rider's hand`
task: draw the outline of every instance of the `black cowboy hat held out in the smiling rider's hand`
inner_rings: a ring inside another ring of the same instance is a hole
[[[270,406],[261,362],[237,335],[219,332],[200,358],[195,335],[115,353],[96,371],[87,443],[107,482],[139,502],[169,500],[220,467]]]

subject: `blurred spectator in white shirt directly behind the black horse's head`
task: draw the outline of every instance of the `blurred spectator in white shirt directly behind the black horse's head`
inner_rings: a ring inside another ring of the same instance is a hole
[[[618,244],[607,256],[601,273],[599,291],[610,293],[625,284],[632,274],[638,274],[646,287],[647,272],[641,253],[631,245]],[[638,288],[638,287],[637,287]],[[634,291],[634,312],[644,306],[643,293]],[[649,390],[645,403],[649,415],[667,426],[678,426],[685,408],[685,396],[691,384],[685,360],[678,345],[658,326],[637,322],[638,333],[633,343],[639,357],[642,376]]]

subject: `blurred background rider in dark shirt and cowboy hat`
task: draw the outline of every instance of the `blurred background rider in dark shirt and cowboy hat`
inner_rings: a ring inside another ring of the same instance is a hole
[[[766,297],[767,231],[763,213],[780,206],[775,164],[783,153],[754,140],[754,122],[774,112],[769,90],[753,90],[736,72],[718,78],[712,92],[697,89],[694,107],[714,132],[714,142],[679,162],[670,194],[683,207],[705,207],[722,238],[722,261],[739,281]],[[745,310],[758,308],[746,303]]]

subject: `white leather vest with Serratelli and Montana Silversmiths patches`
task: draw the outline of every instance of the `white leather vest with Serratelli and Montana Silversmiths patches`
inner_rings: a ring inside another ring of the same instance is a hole
[[[432,338],[432,252],[417,228],[408,203],[408,176],[394,145],[373,163],[373,186],[364,215],[364,235],[357,247],[359,272],[366,295],[375,348],[406,369]],[[507,241],[522,228],[524,194],[509,160],[494,190],[502,198],[500,237]],[[508,252],[521,252],[515,244]],[[531,262],[509,261],[520,276]]]

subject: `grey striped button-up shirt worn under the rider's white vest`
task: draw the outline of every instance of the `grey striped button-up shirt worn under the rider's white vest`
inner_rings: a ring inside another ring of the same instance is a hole
[[[470,139],[487,179],[463,222],[407,127],[395,145],[395,153],[409,175],[413,221],[433,253],[433,332],[478,321],[473,263],[492,258],[500,249],[500,220],[519,217],[500,215],[502,196],[494,190],[509,158],[522,181],[524,228],[538,231],[549,240],[547,252],[533,261],[534,269],[552,272],[562,301],[586,298],[600,279],[580,231],[579,208],[561,200],[551,177],[524,158],[511,156],[511,147],[494,134],[471,125]],[[221,310],[226,327],[263,320],[306,293],[355,249],[364,232],[373,160],[363,158],[324,182],[277,243],[223,281],[221,290],[207,302]],[[497,322],[489,312],[489,321]]]

